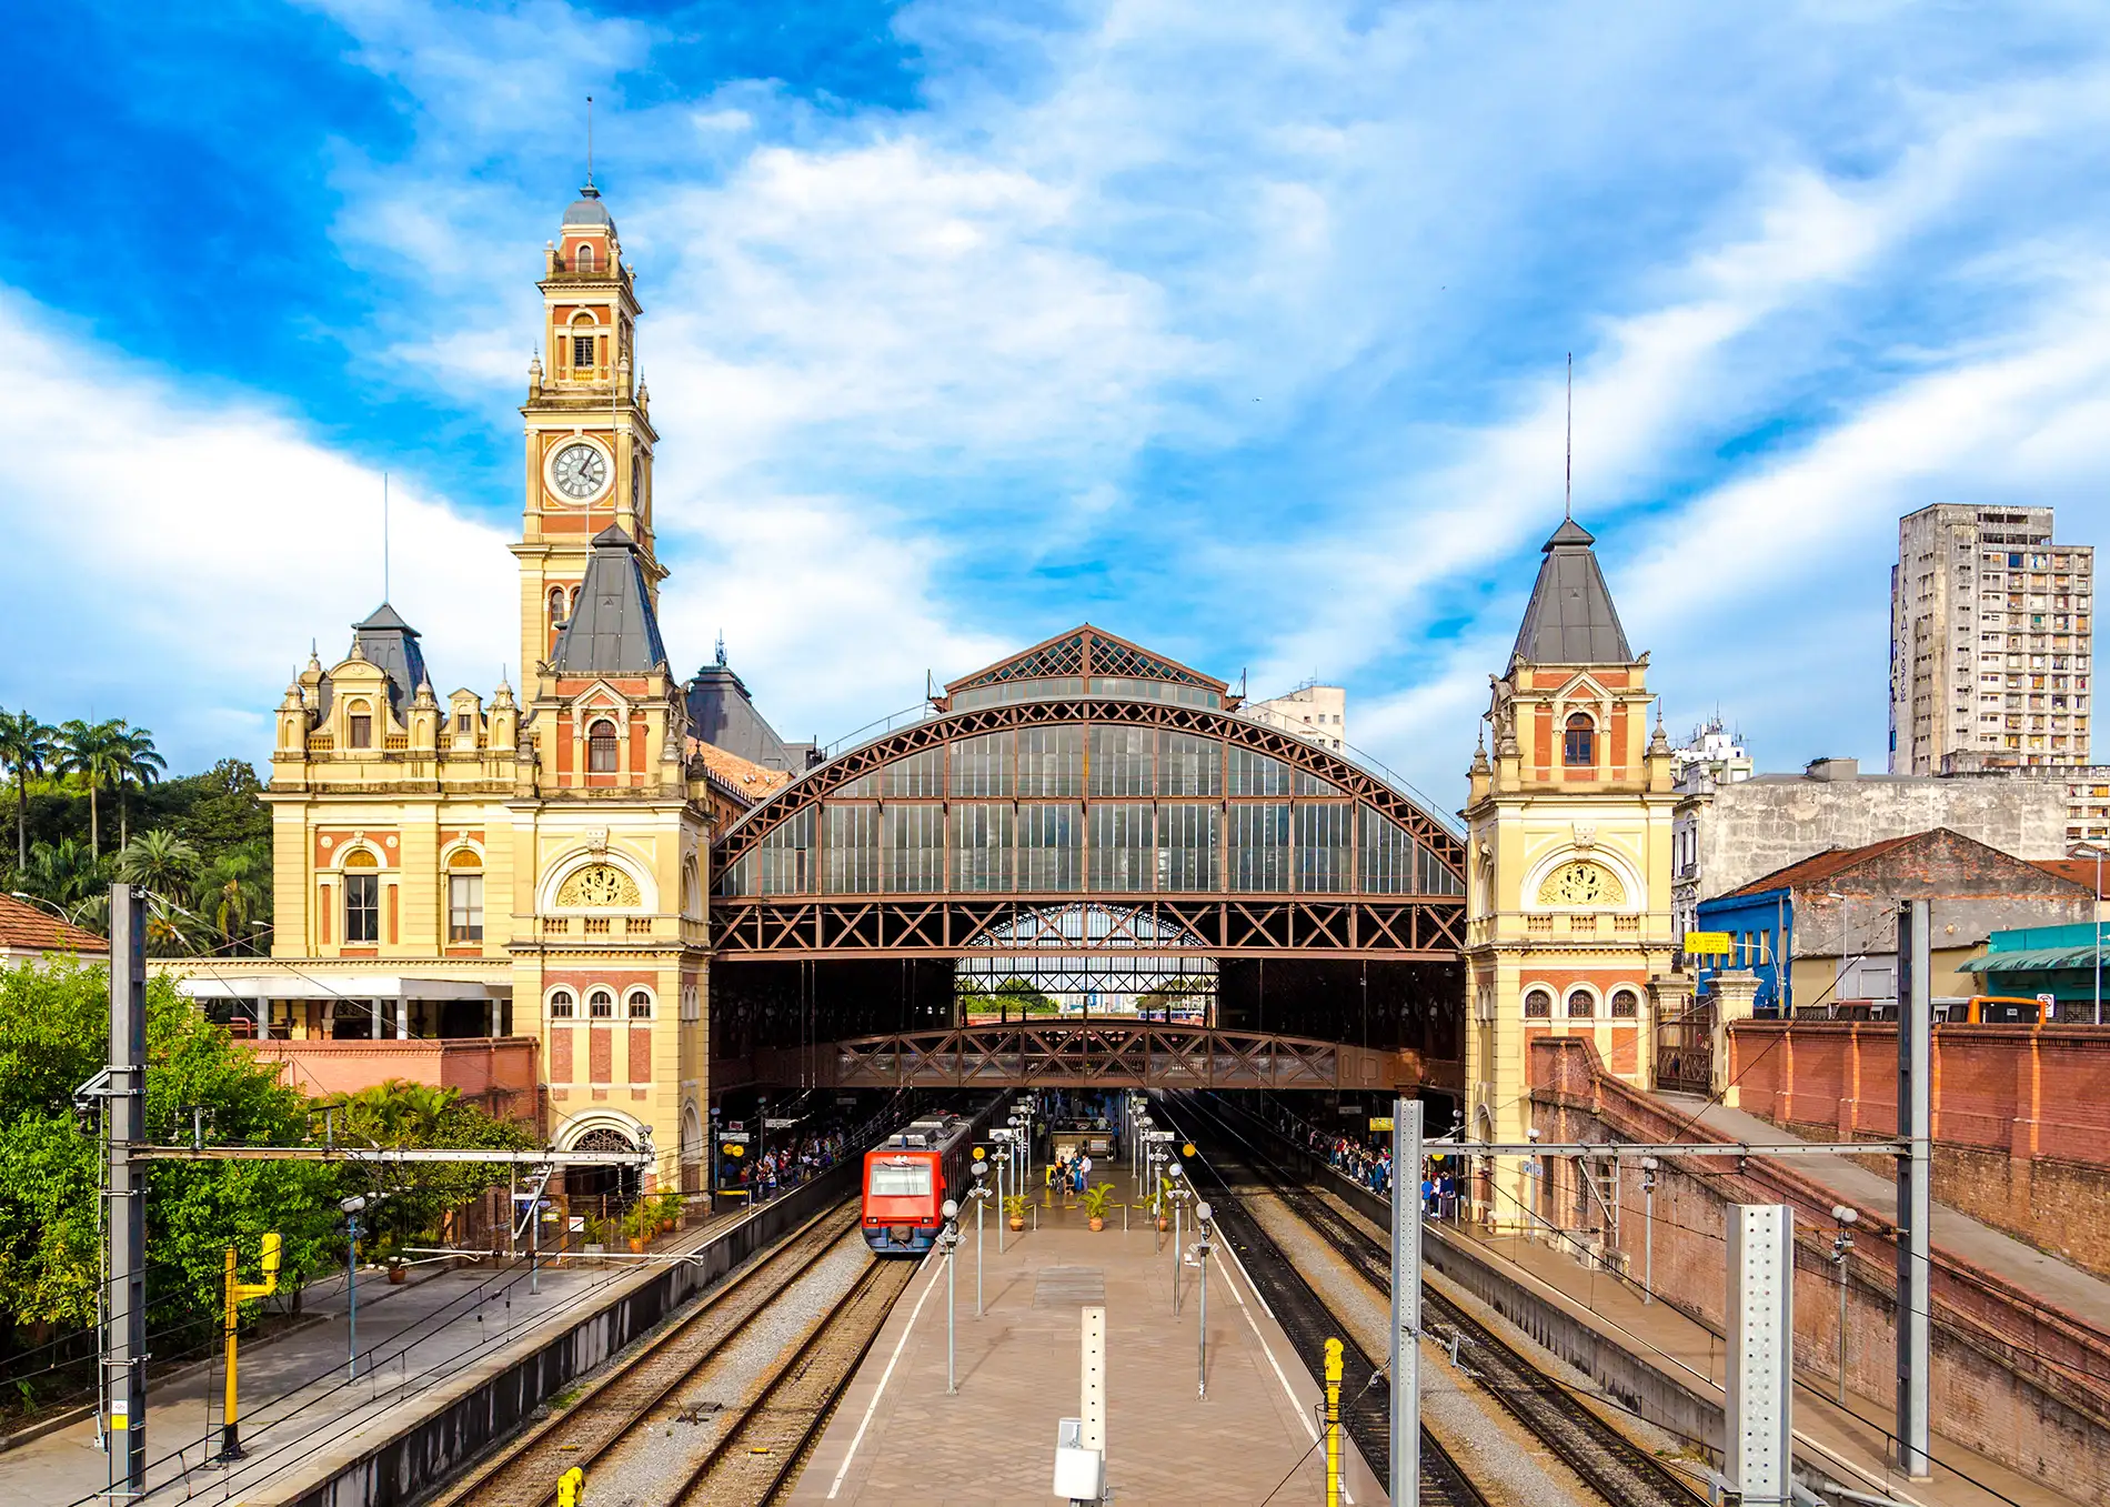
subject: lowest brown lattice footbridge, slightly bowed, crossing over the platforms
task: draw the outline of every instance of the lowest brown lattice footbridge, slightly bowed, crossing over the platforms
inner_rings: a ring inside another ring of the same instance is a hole
[[[1386,1066],[1388,1064],[1388,1066]],[[838,1089],[1367,1089],[1397,1083],[1393,1053],[1308,1036],[1163,1022],[916,1030],[840,1041],[821,1055]]]

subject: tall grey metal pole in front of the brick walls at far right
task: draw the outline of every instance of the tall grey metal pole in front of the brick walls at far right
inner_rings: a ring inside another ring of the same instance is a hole
[[[1897,908],[1897,1467],[1912,1480],[1933,1475],[1929,1456],[1929,1300],[1933,1220],[1933,1055],[1935,1011],[1929,998],[1931,912],[1924,899]]]

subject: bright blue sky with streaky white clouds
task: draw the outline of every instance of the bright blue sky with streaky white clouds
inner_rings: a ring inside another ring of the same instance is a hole
[[[1093,621],[1464,794],[1574,511],[1673,737],[1886,758],[1897,517],[2104,534],[2093,4],[222,0],[15,19],[0,705],[270,751],[517,644],[534,279],[637,266],[675,669],[836,741]]]

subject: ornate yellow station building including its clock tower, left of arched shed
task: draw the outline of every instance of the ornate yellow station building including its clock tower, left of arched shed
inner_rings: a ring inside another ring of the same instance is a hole
[[[591,184],[544,251],[540,293],[513,545],[519,692],[441,697],[388,604],[342,661],[310,656],[279,703],[266,794],[272,956],[190,967],[186,988],[243,1000],[236,1017],[289,1047],[437,1043],[441,1083],[454,1047],[466,1062],[494,1038],[525,1043],[534,1102],[511,1112],[557,1148],[650,1144],[648,1182],[694,1188],[711,832],[806,754],[722,656],[686,686],[669,665],[641,308]],[[694,711],[774,766],[698,739]]]

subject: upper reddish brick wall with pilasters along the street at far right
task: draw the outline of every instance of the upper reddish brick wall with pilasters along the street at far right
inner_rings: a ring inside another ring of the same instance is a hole
[[[1800,1136],[1897,1133],[1897,1026],[1739,1022],[1737,1108]],[[2110,1030],[1935,1028],[1935,1197],[2110,1275]],[[1888,1171],[1888,1167],[1880,1167]]]

